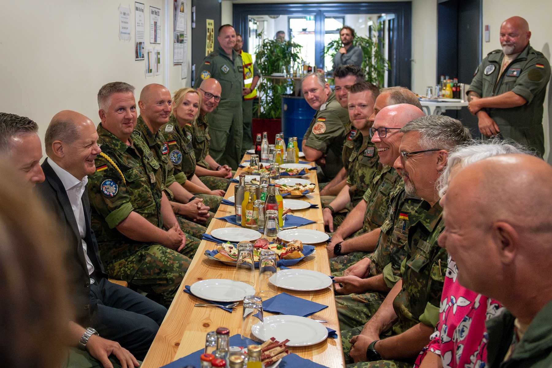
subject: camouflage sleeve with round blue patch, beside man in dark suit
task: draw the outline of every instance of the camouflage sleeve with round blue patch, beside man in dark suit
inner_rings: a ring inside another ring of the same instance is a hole
[[[95,159],[96,172],[88,175],[88,197],[109,228],[119,225],[134,210],[121,174],[103,157]]]

